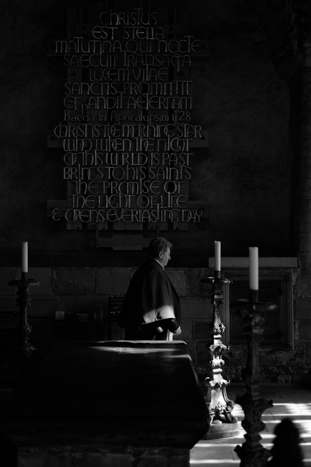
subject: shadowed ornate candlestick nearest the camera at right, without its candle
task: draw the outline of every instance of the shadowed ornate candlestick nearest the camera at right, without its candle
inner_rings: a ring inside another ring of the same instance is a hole
[[[263,467],[267,464],[271,452],[260,444],[265,424],[261,420],[264,410],[272,407],[272,400],[259,396],[259,383],[264,381],[264,373],[260,370],[258,345],[263,335],[263,311],[270,311],[276,305],[270,302],[260,301],[258,290],[249,290],[249,298],[240,298],[230,307],[238,311],[247,311],[243,318],[245,323],[244,335],[247,340],[246,367],[242,369],[242,379],[246,383],[246,392],[243,396],[237,396],[235,402],[242,406],[245,418],[242,427],[246,431],[245,443],[236,446],[235,452],[241,459],[241,467]]]

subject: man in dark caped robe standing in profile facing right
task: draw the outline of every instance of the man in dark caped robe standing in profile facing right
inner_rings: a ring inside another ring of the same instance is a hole
[[[169,340],[169,332],[181,333],[180,300],[164,271],[171,248],[165,238],[153,239],[148,258],[131,279],[118,319],[127,340]]]

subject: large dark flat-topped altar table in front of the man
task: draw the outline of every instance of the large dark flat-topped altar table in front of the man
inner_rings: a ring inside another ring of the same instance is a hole
[[[132,466],[141,456],[144,465],[184,467],[208,418],[183,341],[70,340],[37,362],[0,428],[25,467],[38,456],[58,465],[64,455],[66,467],[80,465],[79,455],[81,466],[97,467],[96,455],[98,466]]]

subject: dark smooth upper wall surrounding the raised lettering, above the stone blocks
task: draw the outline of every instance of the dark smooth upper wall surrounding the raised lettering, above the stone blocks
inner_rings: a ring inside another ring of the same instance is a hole
[[[96,267],[97,256],[102,265],[110,261],[123,267],[134,265],[139,255],[92,248],[95,231],[87,225],[67,230],[65,219],[47,217],[47,201],[67,197],[64,155],[47,147],[47,132],[63,118],[67,69],[62,59],[49,55],[48,44],[55,49],[54,41],[67,37],[67,7],[81,3],[14,0],[0,15],[0,115],[6,135],[0,148],[3,266],[19,264],[26,239],[29,255],[36,256],[33,266],[52,267],[57,255],[56,266],[70,261],[74,267]],[[84,1],[81,9],[91,3]],[[111,8],[126,11],[132,5],[115,0]],[[160,231],[184,257],[181,264],[172,258],[171,264],[204,267],[201,258],[213,254],[215,239],[226,255],[246,255],[250,244],[260,248],[260,255],[294,255],[292,134],[297,119],[290,119],[289,88],[275,70],[253,5],[247,7],[244,0],[159,0],[152,7],[173,17],[175,5],[180,12],[187,10],[189,34],[208,43],[208,55],[193,59],[187,79],[193,82],[192,124],[208,132],[209,147],[195,149],[190,158],[189,200],[205,207],[200,222],[191,222],[189,230],[170,225],[168,232]],[[144,232],[129,232],[155,236],[147,226]],[[113,233],[124,230],[110,226],[100,237]]]

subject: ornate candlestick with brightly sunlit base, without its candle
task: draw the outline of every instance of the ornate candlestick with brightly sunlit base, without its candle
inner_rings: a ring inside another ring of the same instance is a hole
[[[221,311],[223,305],[224,285],[232,281],[226,279],[221,271],[214,271],[214,277],[206,277],[202,279],[202,283],[213,284],[213,294],[211,303],[213,304],[213,321],[210,324],[213,330],[213,344],[209,346],[211,359],[209,362],[209,376],[205,379],[207,386],[207,396],[205,398],[207,409],[210,416],[210,429],[203,436],[203,439],[225,438],[228,436],[236,436],[239,433],[237,419],[231,414],[235,404],[228,399],[226,387],[230,381],[223,379],[222,353],[228,350],[221,342],[221,333],[225,330],[225,326],[221,323]]]

